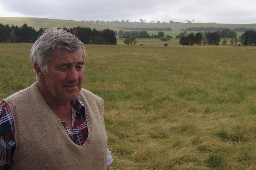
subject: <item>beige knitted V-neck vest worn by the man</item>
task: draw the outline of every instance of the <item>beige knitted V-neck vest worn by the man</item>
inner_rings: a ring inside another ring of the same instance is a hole
[[[11,170],[106,170],[103,100],[85,89],[80,91],[79,99],[86,108],[89,132],[82,146],[69,138],[37,83],[4,100],[15,125],[16,149]]]

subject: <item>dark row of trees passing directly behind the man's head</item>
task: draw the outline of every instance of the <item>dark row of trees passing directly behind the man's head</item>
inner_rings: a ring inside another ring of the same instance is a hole
[[[75,35],[84,44],[117,44],[115,31],[108,28],[102,31],[84,27],[63,29]],[[45,30],[46,28],[40,28],[37,31],[27,24],[21,27],[0,24],[0,42],[34,43]]]

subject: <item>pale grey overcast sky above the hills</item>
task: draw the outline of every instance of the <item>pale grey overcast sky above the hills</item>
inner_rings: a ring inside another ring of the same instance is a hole
[[[255,24],[256,0],[0,0],[0,17]]]

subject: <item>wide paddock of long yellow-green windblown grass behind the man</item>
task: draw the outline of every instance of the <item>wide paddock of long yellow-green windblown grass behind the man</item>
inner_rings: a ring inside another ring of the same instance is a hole
[[[0,44],[0,97],[32,84],[32,44]],[[85,45],[112,169],[256,167],[256,47]]]

